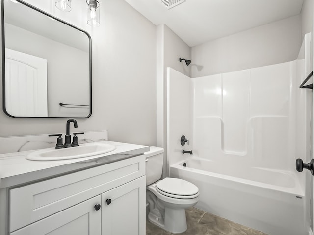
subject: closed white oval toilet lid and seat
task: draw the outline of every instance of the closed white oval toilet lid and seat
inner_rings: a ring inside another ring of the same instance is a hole
[[[178,178],[164,178],[157,182],[156,189],[165,196],[182,199],[195,198],[199,192],[195,185]]]

